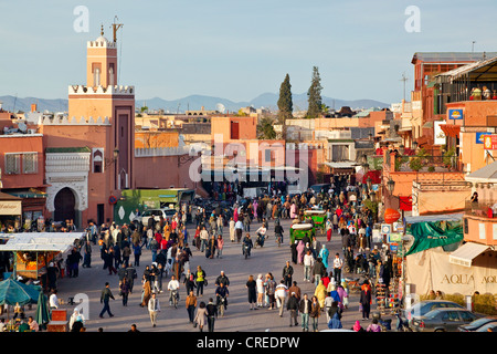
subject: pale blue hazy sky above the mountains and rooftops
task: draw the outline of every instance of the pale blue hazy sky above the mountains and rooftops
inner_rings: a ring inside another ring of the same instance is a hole
[[[88,32],[74,30],[77,6]],[[409,6],[420,32],[405,30]],[[325,96],[399,102],[415,52],[470,52],[473,41],[497,51],[496,10],[495,0],[3,0],[0,95],[66,98],[70,84],[85,84],[86,42],[102,23],[112,39],[117,15],[119,84],[137,100],[250,101],[277,93],[286,73],[304,93],[316,65]]]

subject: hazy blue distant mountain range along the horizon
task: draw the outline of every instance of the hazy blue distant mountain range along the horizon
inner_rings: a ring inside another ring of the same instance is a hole
[[[237,112],[242,107],[253,106],[254,108],[268,108],[272,111],[277,111],[278,94],[275,93],[263,93],[252,101],[247,102],[233,102],[226,98],[212,97],[205,95],[190,95],[179,100],[163,100],[160,97],[154,98],[137,98],[136,107],[142,107],[147,105],[149,110],[165,110],[169,113],[182,113],[184,111],[199,111],[204,107],[205,111],[216,110],[219,104],[222,104],[229,112]],[[67,111],[67,100],[45,100],[38,97],[14,97],[14,96],[0,96],[0,102],[2,102],[3,110],[6,111],[23,111],[29,112],[31,110],[31,104],[35,103],[38,105],[39,112],[66,112]],[[336,100],[331,97],[322,96],[322,102],[330,108],[340,110],[342,106],[349,106],[352,110],[358,108],[371,108],[390,107],[390,104],[374,101],[374,100]],[[306,111],[307,110],[307,93],[294,94],[293,95],[294,111]]]

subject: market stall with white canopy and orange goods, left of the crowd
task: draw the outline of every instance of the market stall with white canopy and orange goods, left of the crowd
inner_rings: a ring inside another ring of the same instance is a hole
[[[62,260],[83,238],[83,232],[11,233],[7,242],[0,244],[0,252],[13,253],[14,279],[40,280],[44,285],[47,266]]]

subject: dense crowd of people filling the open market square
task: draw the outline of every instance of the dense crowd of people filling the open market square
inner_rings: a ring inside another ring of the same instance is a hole
[[[201,266],[191,267],[192,251],[207,259],[222,259],[226,241],[240,243],[243,246],[241,252],[250,254],[252,248],[263,248],[269,235],[279,241],[278,246],[285,244],[284,235],[287,237],[289,230],[284,230],[281,221],[288,219],[292,225],[313,222],[304,211],[320,209],[327,217],[325,238],[305,236],[292,243],[281,277],[276,272],[247,275],[248,309],[277,310],[279,316],[286,311],[289,326],[300,323],[303,331],[318,331],[322,316],[327,327],[339,329],[343,312],[350,308],[346,274],[364,275],[359,300],[362,320],[369,320],[374,284],[378,281],[388,284],[392,275],[388,249],[373,244],[372,225],[378,216],[366,208],[363,200],[367,195],[362,187],[339,180],[328,190],[309,189],[299,195],[285,195],[275,189],[264,197],[237,198],[228,210],[214,208],[208,212],[201,206],[190,207],[188,211],[178,208],[170,220],[150,218],[147,225],[131,222],[119,226],[112,222],[97,226],[89,222],[86,237],[74,246],[65,262],[54,267],[59,266],[59,272],[64,269],[70,278],[77,278],[81,262],[83,268],[92,268],[92,252],[98,244],[103,270],[117,278],[123,306],[128,306],[129,294],[138,284],[141,293],[139,305],[149,312],[151,324],[156,326],[161,305],[163,308],[160,294],[167,291],[166,301],[169,305],[180,303],[184,306],[192,326],[199,331],[214,331],[215,320],[228,310],[230,281],[221,272],[215,278],[213,294],[203,300],[208,274]],[[254,223],[257,228],[253,228]],[[226,233],[229,237],[224,240]],[[340,240],[341,248],[331,252],[327,243],[334,238]],[[142,264],[142,252],[150,252],[151,262]],[[313,291],[300,289],[295,279],[296,267],[302,267],[303,283],[307,283],[305,287],[308,289],[308,284],[313,284]],[[56,293],[56,277],[51,279],[50,289]],[[110,300],[117,296],[110,290],[110,282],[102,291],[101,317],[114,315]],[[180,302],[183,299],[184,302]],[[352,330],[359,327],[363,330],[360,323],[356,323]],[[372,331],[372,327],[368,330]]]

